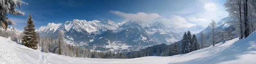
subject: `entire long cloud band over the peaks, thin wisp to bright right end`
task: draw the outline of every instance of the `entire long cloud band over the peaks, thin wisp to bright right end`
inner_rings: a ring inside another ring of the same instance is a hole
[[[185,18],[177,15],[171,15],[169,17],[160,16],[157,13],[124,13],[121,11],[110,11],[110,13],[114,13],[121,17],[124,17],[124,21],[128,20],[139,20],[140,22],[162,22],[165,26],[174,27],[174,28],[188,28],[191,26],[195,26],[195,24],[189,23]]]

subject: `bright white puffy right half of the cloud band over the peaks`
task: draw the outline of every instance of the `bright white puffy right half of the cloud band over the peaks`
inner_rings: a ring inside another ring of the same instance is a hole
[[[188,28],[191,26],[195,26],[195,24],[191,24],[187,22],[185,18],[177,15],[172,15],[168,18],[159,18],[157,21],[162,22],[165,26],[174,28]]]

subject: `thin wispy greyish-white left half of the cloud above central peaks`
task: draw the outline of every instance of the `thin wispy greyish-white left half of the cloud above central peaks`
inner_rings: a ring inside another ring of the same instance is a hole
[[[109,11],[109,12],[119,15],[121,17],[124,17],[126,20],[139,20],[139,21],[146,22],[146,21],[152,21],[160,18],[160,15],[157,13],[144,13],[144,12],[124,13],[121,11]]]

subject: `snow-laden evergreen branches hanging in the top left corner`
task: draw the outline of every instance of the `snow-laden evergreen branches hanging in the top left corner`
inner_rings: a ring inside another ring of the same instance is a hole
[[[16,10],[16,7],[21,9],[21,4],[27,4],[21,0],[0,0],[0,27],[5,30],[8,25],[13,25],[15,22],[7,18],[7,13],[9,15],[25,15],[25,13]]]

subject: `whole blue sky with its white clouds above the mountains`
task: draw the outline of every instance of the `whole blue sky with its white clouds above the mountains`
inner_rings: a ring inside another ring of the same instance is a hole
[[[158,21],[168,27],[195,25],[206,27],[211,19],[219,21],[228,16],[225,0],[22,0],[24,16],[9,15],[19,30],[23,30],[29,14],[36,29],[50,22],[105,20],[116,23],[127,20]]]

